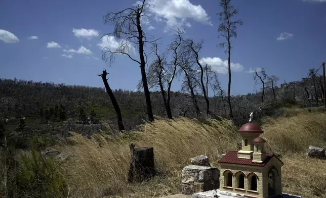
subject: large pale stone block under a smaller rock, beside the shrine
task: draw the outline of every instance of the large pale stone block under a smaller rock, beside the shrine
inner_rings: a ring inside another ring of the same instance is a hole
[[[218,188],[220,170],[209,166],[189,165],[181,175],[182,194],[192,194]]]

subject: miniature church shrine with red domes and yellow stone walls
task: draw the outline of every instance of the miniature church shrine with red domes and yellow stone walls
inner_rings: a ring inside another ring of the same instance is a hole
[[[220,194],[246,197],[282,197],[281,167],[283,163],[266,153],[263,131],[252,121],[241,126],[241,150],[230,151],[219,161]]]

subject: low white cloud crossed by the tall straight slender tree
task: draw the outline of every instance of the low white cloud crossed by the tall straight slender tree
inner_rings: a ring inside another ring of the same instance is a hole
[[[208,64],[215,70],[217,73],[226,74],[228,73],[228,61],[223,61],[218,57],[207,57],[201,58],[199,61],[200,64]],[[243,70],[243,66],[239,63],[231,63],[231,70],[234,72],[240,72]]]

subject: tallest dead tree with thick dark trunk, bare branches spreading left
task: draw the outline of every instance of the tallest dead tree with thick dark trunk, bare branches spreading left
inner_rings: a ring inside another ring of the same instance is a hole
[[[149,38],[147,34],[143,31],[140,21],[142,17],[148,17],[146,15],[147,4],[146,0],[143,0],[141,4],[134,6],[132,8],[124,9],[117,13],[109,12],[104,16],[105,24],[112,24],[114,26],[113,33],[108,33],[105,36],[115,36],[120,40],[120,45],[115,49],[110,49],[109,47],[104,47],[102,58],[107,62],[110,60],[110,64],[114,62],[114,57],[117,54],[125,55],[129,57],[132,61],[136,62],[140,66],[142,83],[144,87],[144,94],[146,99],[146,109],[148,119],[150,121],[154,120],[152,105],[150,101],[150,92],[147,84],[146,77],[146,60],[144,46],[145,43],[152,43],[156,40]],[[102,37],[102,39],[104,36]],[[134,45],[138,47],[139,60],[131,56],[131,52],[134,52]],[[109,53],[110,56],[107,57],[106,54]]]

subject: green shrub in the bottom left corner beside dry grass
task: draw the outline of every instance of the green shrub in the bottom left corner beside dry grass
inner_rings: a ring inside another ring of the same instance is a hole
[[[21,155],[15,184],[16,197],[63,197],[66,194],[66,181],[58,164],[35,149],[30,156]]]

